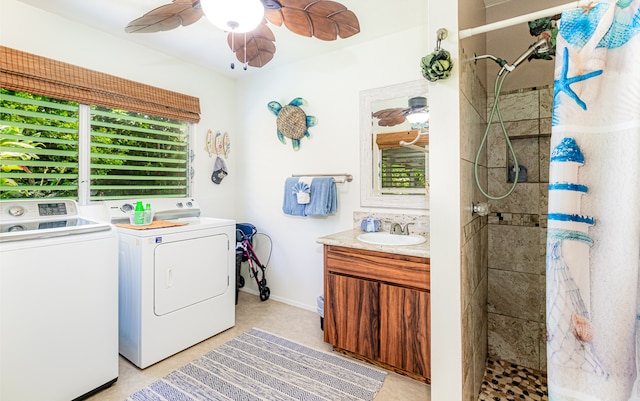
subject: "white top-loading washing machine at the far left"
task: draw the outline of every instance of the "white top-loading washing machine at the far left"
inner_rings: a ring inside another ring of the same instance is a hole
[[[0,201],[0,400],[77,400],[117,378],[115,230],[72,200]]]

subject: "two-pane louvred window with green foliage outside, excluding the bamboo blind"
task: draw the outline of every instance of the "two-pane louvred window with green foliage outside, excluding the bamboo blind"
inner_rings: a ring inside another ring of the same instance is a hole
[[[0,113],[2,199],[188,194],[185,122],[4,89]]]

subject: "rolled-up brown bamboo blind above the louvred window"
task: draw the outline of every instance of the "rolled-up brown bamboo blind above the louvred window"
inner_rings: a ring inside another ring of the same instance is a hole
[[[197,97],[0,46],[0,87],[176,120],[200,121]]]

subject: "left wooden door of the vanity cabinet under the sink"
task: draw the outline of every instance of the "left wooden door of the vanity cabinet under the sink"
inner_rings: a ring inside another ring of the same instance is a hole
[[[369,358],[377,358],[380,284],[338,274],[327,274],[326,280],[325,341]]]

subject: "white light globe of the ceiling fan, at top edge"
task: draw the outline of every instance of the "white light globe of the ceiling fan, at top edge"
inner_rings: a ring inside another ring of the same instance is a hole
[[[264,18],[260,0],[200,0],[204,15],[213,25],[228,32],[249,32]]]

